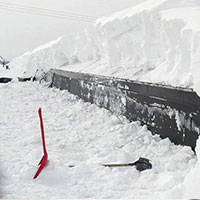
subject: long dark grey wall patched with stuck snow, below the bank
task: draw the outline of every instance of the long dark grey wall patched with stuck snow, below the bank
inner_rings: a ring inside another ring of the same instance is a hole
[[[140,121],[161,138],[195,149],[200,135],[200,98],[190,89],[63,70],[51,70],[47,77],[61,90],[130,121]]]

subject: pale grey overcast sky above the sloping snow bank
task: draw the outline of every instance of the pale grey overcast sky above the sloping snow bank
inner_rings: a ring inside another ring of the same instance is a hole
[[[2,2],[100,17],[146,0],[0,0],[0,55],[12,59],[89,23],[5,10]],[[8,5],[9,6],[9,5]]]

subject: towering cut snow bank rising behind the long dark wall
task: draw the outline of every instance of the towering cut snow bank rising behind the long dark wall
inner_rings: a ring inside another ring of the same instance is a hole
[[[117,76],[191,87],[200,94],[200,1],[150,0],[16,58],[36,68]],[[16,73],[14,73],[16,74]]]

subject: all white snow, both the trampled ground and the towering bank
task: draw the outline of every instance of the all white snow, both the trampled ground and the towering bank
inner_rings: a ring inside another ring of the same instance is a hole
[[[1,77],[14,79],[0,85],[0,197],[200,198],[200,140],[195,155],[67,91],[16,81],[59,68],[193,88],[200,95],[199,11],[199,0],[150,0],[15,58],[11,70],[1,68]],[[42,156],[39,107],[50,162],[33,180]],[[181,127],[182,118],[176,120]],[[153,168],[101,166],[139,157]]]

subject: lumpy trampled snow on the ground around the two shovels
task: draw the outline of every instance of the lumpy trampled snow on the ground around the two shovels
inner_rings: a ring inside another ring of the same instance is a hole
[[[0,99],[3,198],[182,198],[186,175],[192,167],[199,174],[199,161],[189,147],[153,136],[139,122],[129,123],[67,91],[13,81],[0,84]],[[49,165],[33,180],[42,157],[39,107]],[[134,167],[100,165],[139,157],[150,159],[153,168],[140,173]]]

